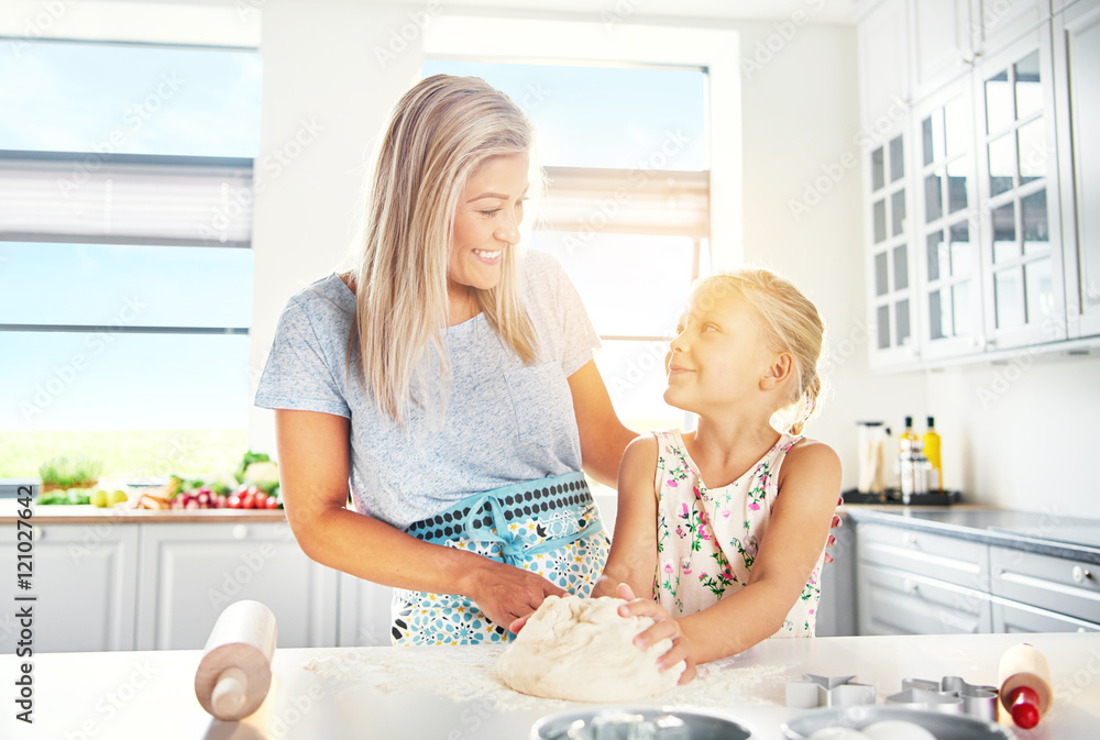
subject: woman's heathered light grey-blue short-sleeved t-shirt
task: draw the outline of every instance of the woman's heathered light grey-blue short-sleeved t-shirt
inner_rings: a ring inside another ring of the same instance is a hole
[[[404,428],[346,373],[355,296],[334,274],[287,301],[255,404],[349,418],[355,508],[399,529],[473,494],[580,471],[566,378],[592,360],[600,340],[553,257],[528,251],[520,274],[537,363],[525,365],[483,314],[447,328],[443,412],[438,361],[428,366],[427,402]]]

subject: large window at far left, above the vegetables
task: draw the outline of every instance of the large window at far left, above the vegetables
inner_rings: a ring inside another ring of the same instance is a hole
[[[0,42],[0,439],[22,450],[0,475],[62,430],[243,446],[261,74],[253,51]],[[132,439],[128,473],[194,445]]]

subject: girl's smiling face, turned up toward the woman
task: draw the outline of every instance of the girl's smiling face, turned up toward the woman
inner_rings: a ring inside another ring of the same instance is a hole
[[[772,356],[748,302],[721,285],[692,292],[670,349],[664,400],[695,413],[757,400]]]

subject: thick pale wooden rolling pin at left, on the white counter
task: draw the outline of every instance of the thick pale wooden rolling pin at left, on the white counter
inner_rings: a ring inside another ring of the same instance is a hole
[[[233,721],[263,704],[272,684],[275,615],[260,601],[226,607],[195,672],[195,696],[209,714]]]

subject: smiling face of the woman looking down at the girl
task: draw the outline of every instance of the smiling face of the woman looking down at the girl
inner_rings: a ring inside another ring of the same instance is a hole
[[[486,159],[466,180],[454,209],[454,232],[447,288],[488,290],[501,281],[504,250],[519,243],[527,199],[529,157],[509,154]]]

